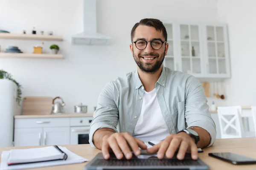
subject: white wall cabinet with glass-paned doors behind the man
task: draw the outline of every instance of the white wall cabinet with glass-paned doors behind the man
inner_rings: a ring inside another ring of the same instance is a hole
[[[164,23],[169,50],[164,65],[197,78],[230,77],[227,26]]]

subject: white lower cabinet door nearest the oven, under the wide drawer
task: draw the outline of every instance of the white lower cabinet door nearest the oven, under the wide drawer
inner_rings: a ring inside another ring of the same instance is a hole
[[[70,144],[70,127],[46,127],[43,131],[43,145]]]

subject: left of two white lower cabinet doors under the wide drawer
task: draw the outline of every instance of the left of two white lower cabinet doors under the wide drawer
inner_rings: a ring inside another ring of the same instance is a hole
[[[15,146],[40,146],[42,145],[42,128],[15,129]]]

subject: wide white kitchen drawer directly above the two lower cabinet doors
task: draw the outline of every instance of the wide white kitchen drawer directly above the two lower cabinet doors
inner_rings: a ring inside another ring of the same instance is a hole
[[[70,118],[15,119],[15,128],[25,127],[69,127]]]

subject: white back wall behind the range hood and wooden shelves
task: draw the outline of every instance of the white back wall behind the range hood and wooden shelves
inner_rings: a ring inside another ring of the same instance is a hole
[[[57,43],[65,59],[0,59],[0,69],[20,82],[23,96],[63,97],[67,113],[73,113],[73,106],[80,102],[93,111],[107,82],[136,69],[129,43],[131,28],[140,19],[217,20],[216,0],[98,0],[98,30],[113,42],[108,47],[79,47],[71,45],[71,36],[83,31],[82,4],[82,0],[0,0],[0,29],[30,33],[35,26],[37,31],[64,36],[63,42],[44,41],[44,51],[50,52],[49,46]],[[17,45],[32,53],[37,44],[41,41],[0,40],[2,52],[8,45]]]

